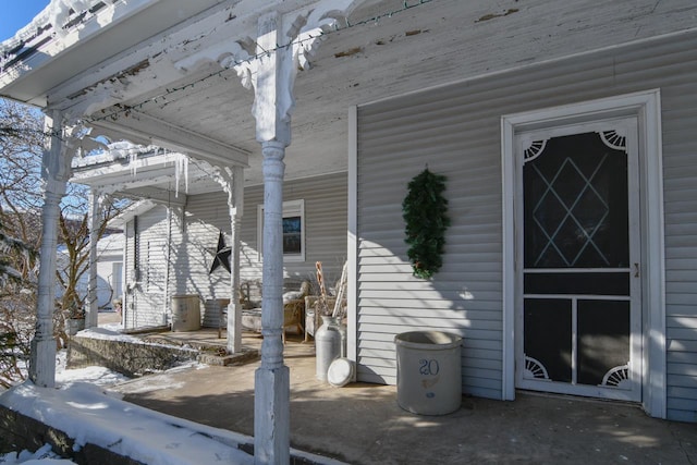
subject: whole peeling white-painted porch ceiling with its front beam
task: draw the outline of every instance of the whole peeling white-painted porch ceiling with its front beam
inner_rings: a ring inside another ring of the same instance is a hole
[[[89,124],[117,138],[160,145],[215,164],[248,162],[246,185],[261,184],[261,150],[250,111],[253,91],[242,86],[234,70],[194,58],[217,50],[216,59],[221,59],[235,47],[253,46],[258,17],[267,11],[290,14],[326,2],[114,2],[114,7],[132,5],[132,14],[124,13],[120,22],[102,29],[94,25],[77,28],[62,42],[37,38],[33,52],[0,72],[0,95],[87,115]],[[347,170],[350,107],[584,52],[589,47],[585,37],[594,24],[580,10],[574,14],[583,20],[567,17],[564,2],[523,5],[511,1],[496,7],[484,0],[335,3],[358,7],[351,11],[348,22],[340,20],[339,30],[323,37],[311,59],[314,68],[296,77],[292,143],[285,157],[289,180]],[[627,27],[647,30],[649,3],[627,10]],[[181,12],[176,5],[182,7]],[[135,14],[140,10],[143,16]],[[173,10],[181,13],[181,22]],[[164,12],[168,14],[159,19]],[[144,28],[138,17],[150,16],[158,20]],[[693,27],[688,17],[675,13],[672,19],[676,25],[671,27]],[[540,21],[553,25],[540,28]],[[577,25],[582,21],[588,28]],[[610,34],[594,39],[595,48],[616,45]],[[85,62],[76,59],[83,52]]]

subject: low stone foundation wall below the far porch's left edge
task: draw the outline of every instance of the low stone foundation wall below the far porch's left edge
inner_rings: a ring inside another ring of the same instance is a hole
[[[68,368],[102,366],[130,378],[196,360],[198,351],[75,335],[68,343]]]

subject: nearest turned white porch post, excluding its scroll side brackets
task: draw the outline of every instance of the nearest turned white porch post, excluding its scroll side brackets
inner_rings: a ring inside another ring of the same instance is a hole
[[[283,365],[283,175],[291,142],[290,111],[296,74],[277,12],[259,17],[254,115],[264,155],[264,268],[261,366],[255,376],[254,456],[257,464],[290,461],[290,370]]]

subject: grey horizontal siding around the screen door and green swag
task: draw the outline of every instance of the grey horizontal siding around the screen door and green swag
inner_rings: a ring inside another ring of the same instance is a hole
[[[468,60],[476,56],[462,57],[458,65],[467,68]],[[694,416],[697,391],[693,384],[676,389],[674,383],[685,384],[686,379],[697,376],[697,329],[693,319],[697,317],[696,62],[697,35],[693,32],[359,107],[359,379],[394,382],[392,340],[400,331],[455,331],[475,344],[474,351],[484,348],[477,346],[478,342],[501,344],[502,115],[660,88],[668,416]],[[457,73],[441,76],[439,82],[448,79],[457,81]],[[452,218],[443,268],[431,282],[411,277],[401,210],[408,181],[426,166],[447,175],[445,196]],[[462,298],[463,291],[468,299]],[[433,313],[436,316],[431,316]],[[676,316],[687,318],[672,318]],[[365,352],[369,343],[370,352]],[[683,347],[680,354],[676,347]],[[497,365],[481,355],[463,354],[463,390],[501,397],[502,359]]]

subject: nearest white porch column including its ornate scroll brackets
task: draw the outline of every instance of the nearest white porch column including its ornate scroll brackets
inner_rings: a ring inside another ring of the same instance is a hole
[[[304,11],[269,12],[259,17],[255,54],[242,44],[201,50],[178,63],[186,69],[213,60],[233,66],[242,83],[254,88],[252,112],[264,155],[264,264],[261,366],[255,376],[255,463],[290,461],[290,370],[283,365],[283,176],[285,148],[291,143],[293,85],[299,69],[308,69],[321,35],[331,30],[332,14],[347,13],[355,0],[323,0]],[[235,234],[233,223],[233,234]],[[233,247],[235,246],[233,238]],[[239,257],[233,252],[233,257]],[[237,269],[237,266],[234,267]],[[234,280],[234,278],[232,278]],[[233,286],[234,286],[233,281]],[[235,287],[239,291],[237,287]],[[230,330],[230,329],[229,329]]]

